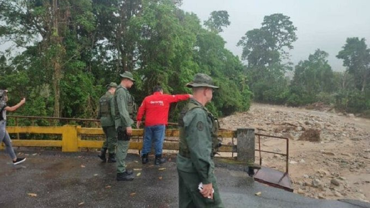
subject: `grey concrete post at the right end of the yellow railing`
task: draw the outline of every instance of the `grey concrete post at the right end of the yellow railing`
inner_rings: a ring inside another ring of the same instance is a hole
[[[237,129],[238,161],[254,164],[255,162],[255,129]]]

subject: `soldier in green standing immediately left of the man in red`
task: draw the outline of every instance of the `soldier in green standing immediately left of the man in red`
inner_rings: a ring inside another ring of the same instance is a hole
[[[115,128],[117,132],[117,180],[133,180],[132,170],[126,170],[126,156],[130,136],[132,134],[131,125],[135,117],[136,105],[134,98],[128,89],[134,85],[134,76],[131,72],[125,71],[121,76],[121,83],[114,93],[115,103]]]

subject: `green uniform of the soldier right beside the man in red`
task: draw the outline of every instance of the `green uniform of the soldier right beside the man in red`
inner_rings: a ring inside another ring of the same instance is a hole
[[[114,93],[115,103],[115,128],[117,134],[126,134],[126,127],[131,127],[134,123],[134,113],[136,111],[134,98],[130,95],[128,90],[121,85],[118,85]],[[121,131],[120,131],[121,130]],[[117,173],[126,171],[126,156],[129,146],[130,137],[122,139],[118,136],[117,145]]]

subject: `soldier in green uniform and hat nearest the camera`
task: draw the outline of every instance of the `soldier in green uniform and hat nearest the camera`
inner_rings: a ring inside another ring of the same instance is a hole
[[[214,175],[213,156],[220,146],[217,139],[219,123],[205,105],[212,100],[212,78],[197,73],[192,88],[193,99],[179,117],[180,142],[177,155],[180,208],[223,208],[217,179]],[[198,188],[202,186],[202,188]]]

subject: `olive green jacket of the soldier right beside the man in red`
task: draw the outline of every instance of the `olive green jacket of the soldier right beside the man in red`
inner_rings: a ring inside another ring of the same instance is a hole
[[[130,127],[134,121],[131,119],[133,112],[129,112],[129,102],[132,102],[132,96],[128,90],[122,85],[118,85],[114,93],[115,108],[115,128],[122,127],[123,129]],[[130,116],[131,114],[131,116]]]

